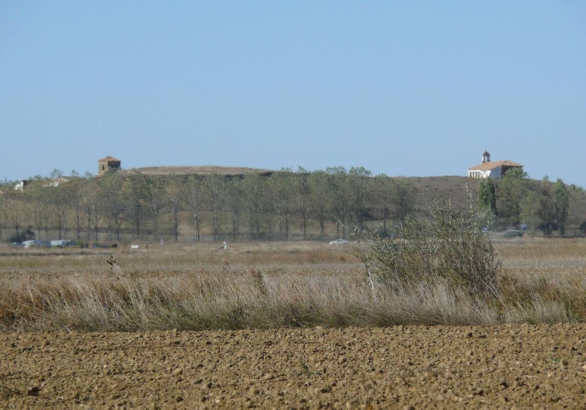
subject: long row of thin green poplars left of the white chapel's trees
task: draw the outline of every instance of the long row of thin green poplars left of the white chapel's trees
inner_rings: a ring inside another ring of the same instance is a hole
[[[53,172],[52,177],[60,172]],[[344,238],[369,220],[401,220],[414,212],[413,184],[362,167],[308,172],[283,169],[271,176],[147,176],[136,170],[86,175],[50,186],[33,178],[23,189],[7,184],[0,195],[0,238],[22,241],[74,238],[120,241],[122,235],[158,240],[180,229],[202,239]],[[189,217],[190,226],[180,224]],[[319,226],[308,233],[309,221]],[[335,232],[333,231],[335,224]],[[183,228],[185,227],[185,228]],[[328,232],[327,228],[331,227]]]

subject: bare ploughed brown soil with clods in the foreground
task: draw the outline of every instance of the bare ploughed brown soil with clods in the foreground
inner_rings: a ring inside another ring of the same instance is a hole
[[[0,334],[7,408],[586,408],[586,324]]]

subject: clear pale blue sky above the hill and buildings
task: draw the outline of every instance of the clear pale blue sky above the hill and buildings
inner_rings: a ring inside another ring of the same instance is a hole
[[[586,186],[586,2],[0,0],[0,179],[488,149]]]

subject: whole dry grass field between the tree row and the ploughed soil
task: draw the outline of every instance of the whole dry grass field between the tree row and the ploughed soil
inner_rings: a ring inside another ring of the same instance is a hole
[[[0,250],[5,331],[576,322],[586,240],[496,242],[497,299],[426,278],[373,289],[352,245],[236,242],[147,250]],[[115,269],[107,260],[113,258]]]

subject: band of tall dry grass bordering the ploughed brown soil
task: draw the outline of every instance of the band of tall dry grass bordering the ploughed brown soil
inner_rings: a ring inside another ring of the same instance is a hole
[[[213,275],[144,278],[115,267],[20,279],[0,289],[0,329],[154,330],[567,322],[586,317],[585,283],[505,278],[499,298],[473,296],[441,276],[401,286],[356,275],[291,276],[224,264]],[[582,303],[582,305],[580,305]]]

